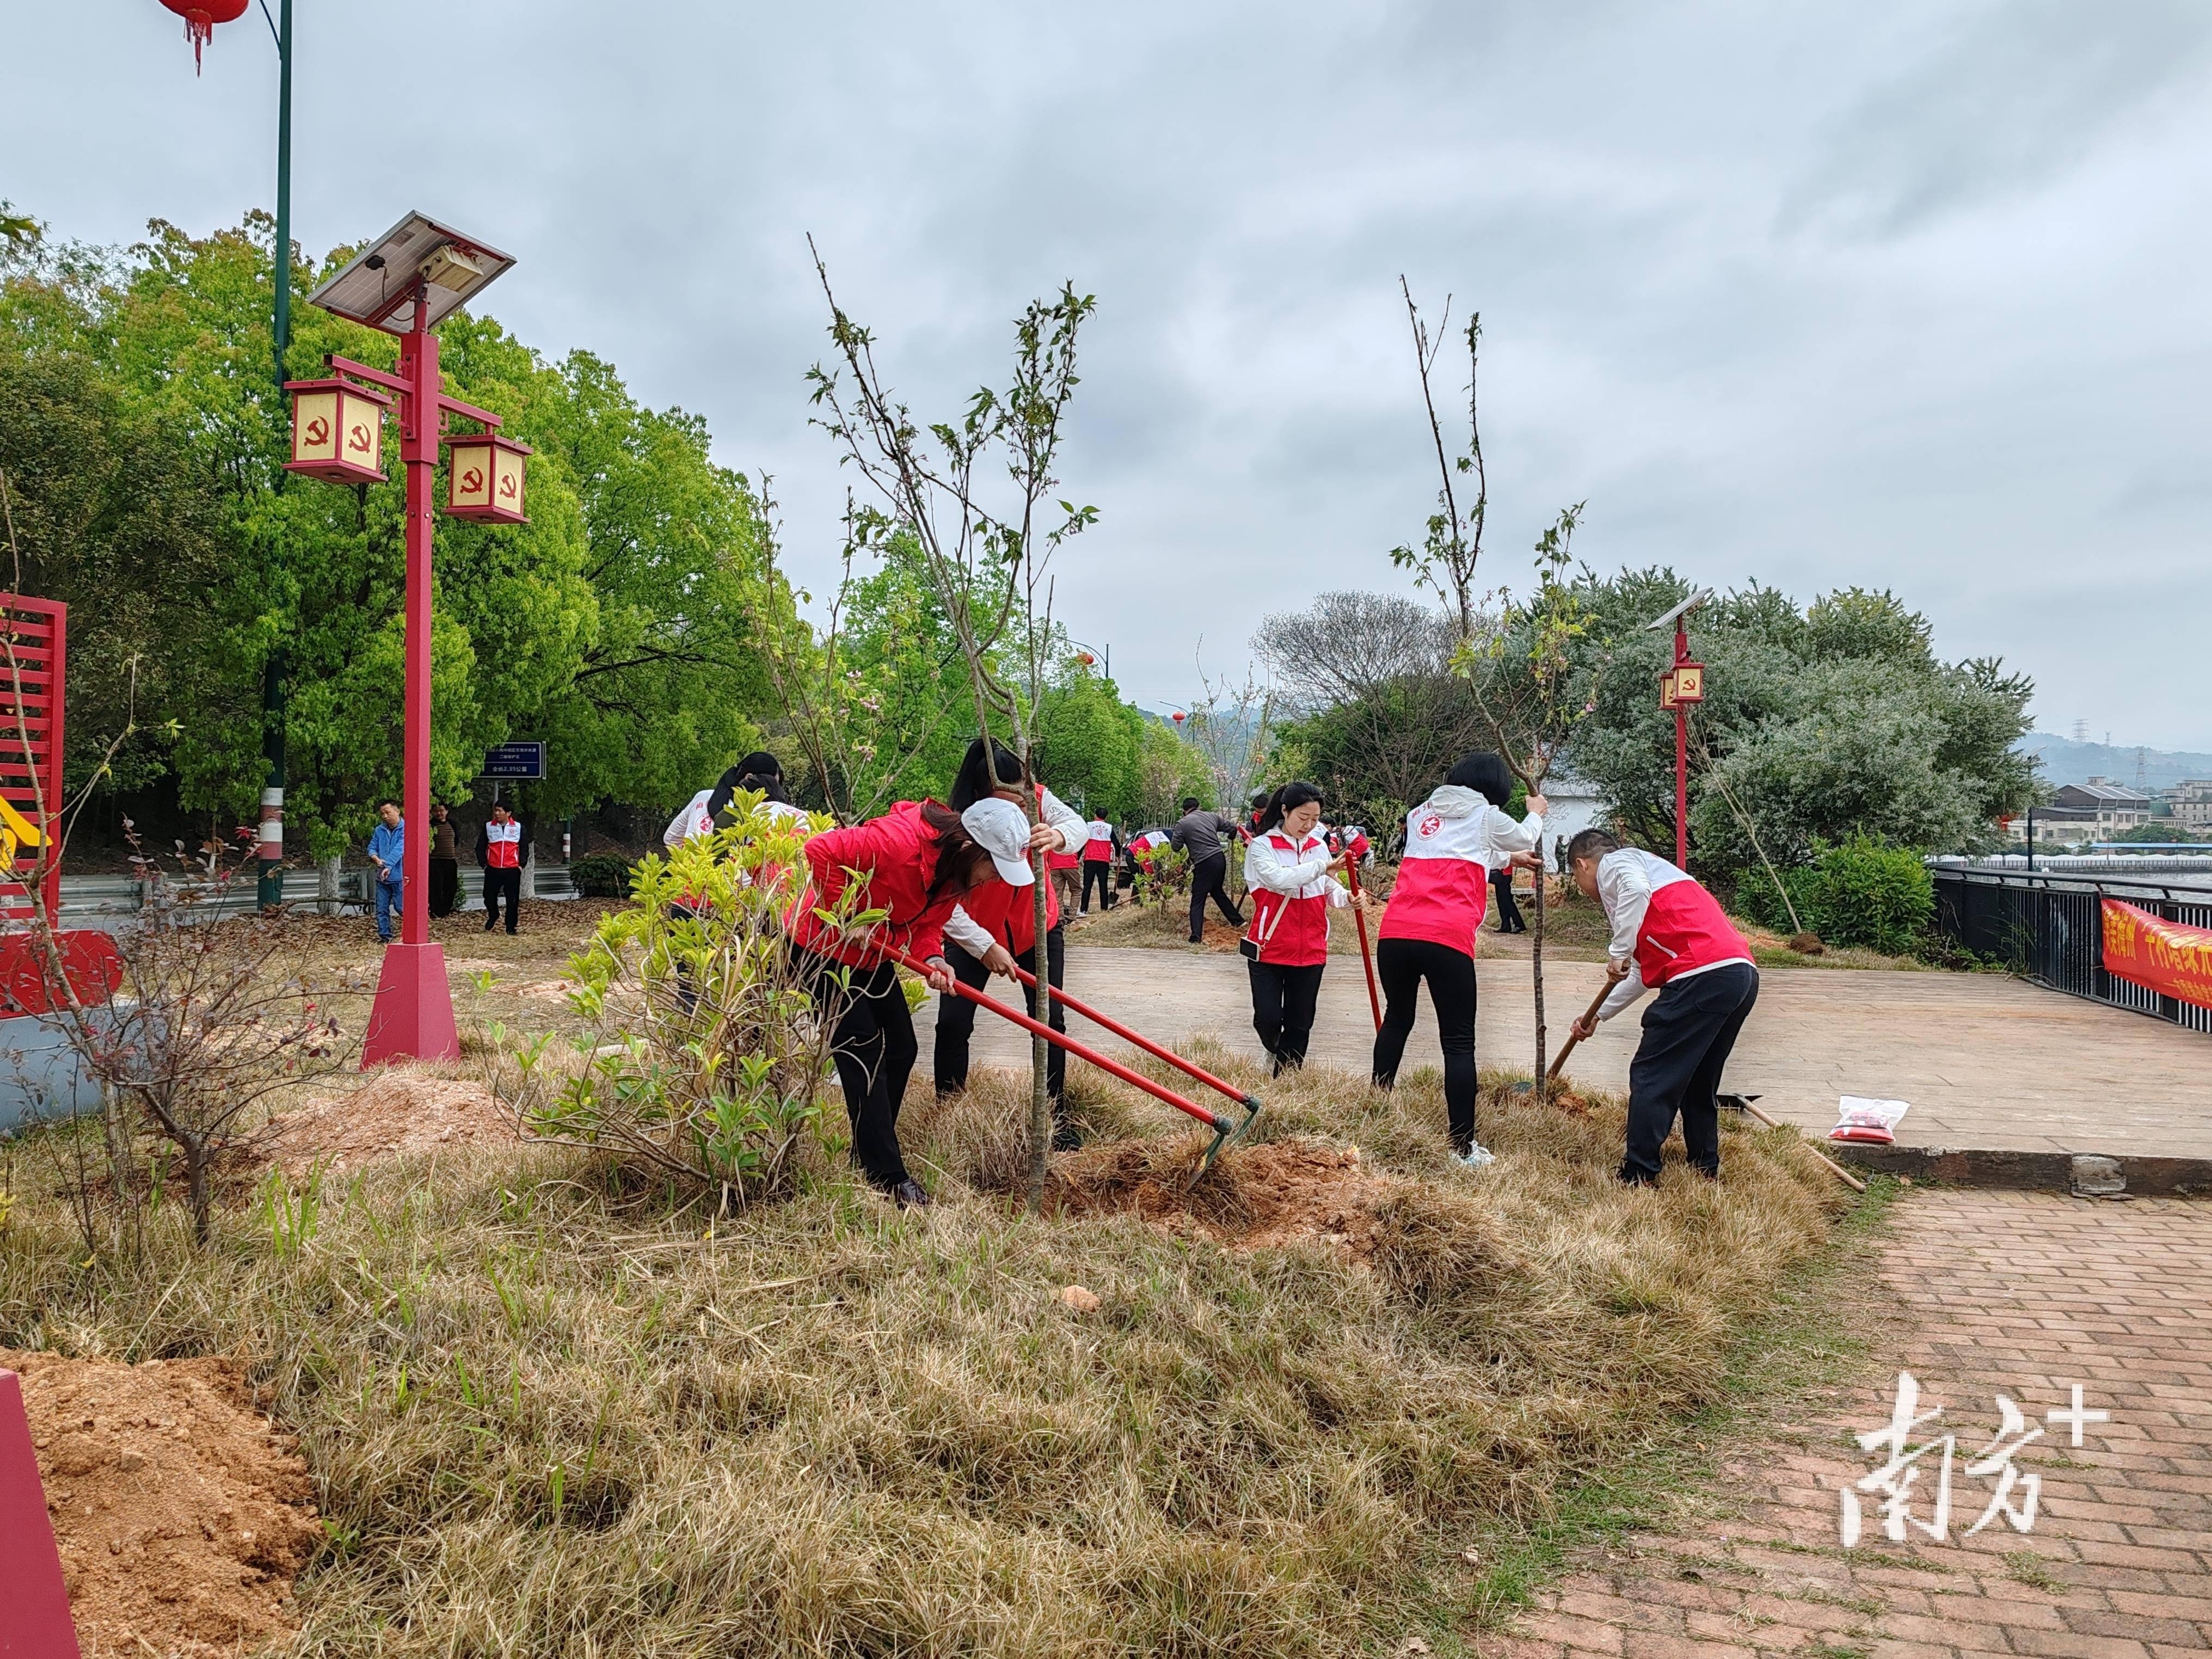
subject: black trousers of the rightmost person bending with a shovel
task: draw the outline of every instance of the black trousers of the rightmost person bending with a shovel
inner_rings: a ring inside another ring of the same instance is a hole
[[[1659,1179],[1659,1150],[1677,1113],[1690,1168],[1721,1172],[1721,1106],[1714,1095],[1754,1002],[1759,969],[1750,962],[1694,973],[1659,989],[1659,1000],[1644,1013],[1644,1042],[1628,1064],[1624,1181]]]

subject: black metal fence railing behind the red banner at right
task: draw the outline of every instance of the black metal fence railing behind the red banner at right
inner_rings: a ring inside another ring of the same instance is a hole
[[[1936,931],[2053,991],[2108,1002],[2188,1031],[2212,1033],[2212,1009],[2150,991],[2104,971],[2104,914],[2117,898],[2152,916],[2212,927],[2212,889],[2086,874],[1936,869]]]

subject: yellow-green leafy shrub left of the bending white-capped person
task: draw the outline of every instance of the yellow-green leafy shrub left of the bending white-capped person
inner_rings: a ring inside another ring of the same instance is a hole
[[[821,1113],[832,1020],[783,945],[801,847],[827,821],[739,816],[641,858],[630,905],[568,962],[591,1035],[555,1051],[491,1029],[498,1079],[535,1135],[595,1146],[723,1201],[779,1194]],[[883,911],[841,916],[852,927]],[[568,1055],[562,1064],[560,1053]]]

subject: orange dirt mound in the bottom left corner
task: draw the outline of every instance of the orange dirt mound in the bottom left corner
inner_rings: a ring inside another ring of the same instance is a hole
[[[230,1360],[0,1349],[24,1409],[84,1652],[234,1655],[294,1630],[307,1464]]]

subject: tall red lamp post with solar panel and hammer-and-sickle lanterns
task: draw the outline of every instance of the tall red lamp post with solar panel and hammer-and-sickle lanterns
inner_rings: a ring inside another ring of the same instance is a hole
[[[330,380],[292,380],[292,460],[285,471],[356,482],[383,478],[383,405],[398,398],[400,462],[407,467],[407,728],[403,745],[407,845],[403,854],[400,940],[385,947],[376,1006],[361,1064],[387,1060],[456,1060],[453,991],[445,978],[445,947],[429,942],[429,586],[431,489],[445,418],[476,420],[484,434],[453,434],[456,453],[484,453],[495,462],[498,498],[478,502],[456,478],[449,511],[504,524],[522,518],[522,456],[526,447],[491,434],[500,418],[449,398],[438,376],[438,336],[431,330],[462,301],[482,292],[515,261],[414,212],[400,219],[307,301],[336,316],[400,336],[400,372],[385,374],[332,356]],[[374,389],[372,389],[374,387]],[[330,425],[319,425],[319,422]]]

